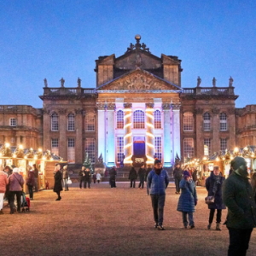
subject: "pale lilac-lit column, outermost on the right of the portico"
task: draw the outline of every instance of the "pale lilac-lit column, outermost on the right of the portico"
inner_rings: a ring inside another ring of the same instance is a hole
[[[180,103],[172,104],[173,116],[173,155],[181,159],[180,152]]]

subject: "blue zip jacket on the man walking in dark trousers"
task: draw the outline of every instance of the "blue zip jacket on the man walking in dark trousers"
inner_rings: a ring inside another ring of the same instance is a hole
[[[157,175],[154,170],[148,173],[147,189],[150,189],[150,195],[166,195],[166,189],[169,184],[169,177],[166,170],[162,170]]]

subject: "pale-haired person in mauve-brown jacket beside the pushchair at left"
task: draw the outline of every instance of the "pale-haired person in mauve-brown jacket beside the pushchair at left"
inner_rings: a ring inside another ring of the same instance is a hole
[[[20,212],[24,179],[19,172],[19,168],[15,167],[13,170],[13,174],[9,177],[10,214],[15,213],[15,195],[17,199],[17,211]]]

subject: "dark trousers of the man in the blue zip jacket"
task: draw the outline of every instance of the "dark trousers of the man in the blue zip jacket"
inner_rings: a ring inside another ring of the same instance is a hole
[[[164,220],[164,207],[166,201],[166,195],[150,195],[152,201],[152,207],[154,212],[154,222],[156,224],[163,224]]]

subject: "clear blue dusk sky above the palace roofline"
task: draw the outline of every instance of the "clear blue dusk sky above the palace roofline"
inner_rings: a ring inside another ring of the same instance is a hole
[[[0,104],[42,108],[49,87],[96,86],[99,55],[123,55],[139,33],[152,54],[182,60],[182,86],[228,86],[256,104],[256,1],[1,1]]]

